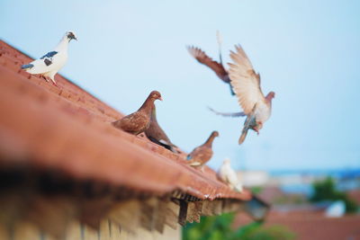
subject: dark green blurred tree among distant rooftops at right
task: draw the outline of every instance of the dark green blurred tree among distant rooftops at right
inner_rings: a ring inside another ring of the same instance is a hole
[[[312,202],[321,200],[343,200],[347,213],[356,212],[356,201],[351,200],[346,192],[338,191],[335,186],[335,181],[331,177],[328,177],[323,181],[314,182],[312,188],[314,190],[314,194],[310,198]]]

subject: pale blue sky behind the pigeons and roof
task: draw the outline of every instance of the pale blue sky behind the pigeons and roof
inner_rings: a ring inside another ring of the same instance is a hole
[[[60,74],[125,114],[158,90],[157,120],[178,147],[220,132],[215,169],[225,157],[239,170],[359,169],[359,13],[356,0],[2,0],[0,38],[39,58],[75,31]],[[272,117],[241,146],[244,119],[207,110],[240,111],[236,97],[185,49],[218,59],[217,30],[224,62],[241,44],[263,92],[276,93]]]

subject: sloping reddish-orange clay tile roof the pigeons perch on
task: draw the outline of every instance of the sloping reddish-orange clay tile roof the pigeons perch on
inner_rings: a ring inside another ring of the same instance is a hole
[[[31,58],[0,40],[0,164],[57,169],[91,179],[162,195],[173,191],[200,200],[250,200],[206,169],[109,124],[119,111],[56,76],[58,87],[20,70]]]

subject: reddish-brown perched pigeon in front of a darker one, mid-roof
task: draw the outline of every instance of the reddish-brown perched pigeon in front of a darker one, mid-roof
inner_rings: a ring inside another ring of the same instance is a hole
[[[123,117],[121,120],[113,121],[112,125],[134,135],[144,132],[150,126],[151,112],[155,107],[154,102],[157,99],[162,101],[161,94],[157,91],[152,91],[138,111]]]

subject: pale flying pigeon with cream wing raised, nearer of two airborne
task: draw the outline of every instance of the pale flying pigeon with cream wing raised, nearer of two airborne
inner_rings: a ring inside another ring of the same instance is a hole
[[[236,52],[231,51],[230,58],[233,64],[229,63],[229,77],[231,79],[234,92],[238,97],[238,103],[243,109],[242,112],[216,114],[230,117],[247,116],[238,144],[242,144],[247,137],[247,130],[253,129],[259,134],[266,120],[270,118],[272,100],[275,93],[270,92],[264,96],[260,87],[260,75],[257,74],[252,66],[247,54],[240,45],[235,46]]]

